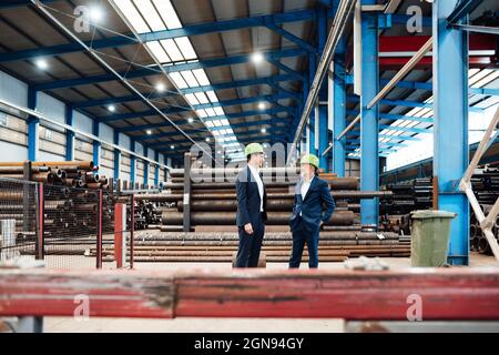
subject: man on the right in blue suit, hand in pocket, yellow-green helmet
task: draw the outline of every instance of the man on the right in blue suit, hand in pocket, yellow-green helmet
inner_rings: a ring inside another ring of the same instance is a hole
[[[319,160],[314,154],[301,159],[302,179],[295,187],[295,204],[289,221],[293,232],[293,252],[289,267],[299,267],[305,243],[308,248],[308,267],[318,266],[319,230],[329,221],[335,210],[329,185],[317,176]]]

